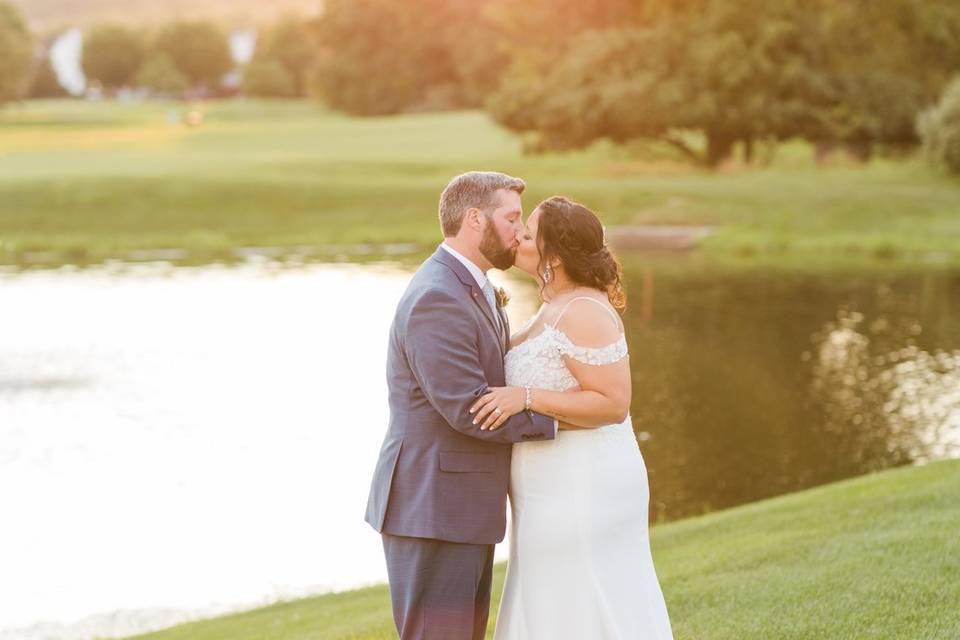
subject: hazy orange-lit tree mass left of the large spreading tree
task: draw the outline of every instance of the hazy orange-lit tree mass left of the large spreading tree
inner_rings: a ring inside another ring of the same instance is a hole
[[[329,0],[314,88],[360,115],[482,104],[509,58],[486,2]]]

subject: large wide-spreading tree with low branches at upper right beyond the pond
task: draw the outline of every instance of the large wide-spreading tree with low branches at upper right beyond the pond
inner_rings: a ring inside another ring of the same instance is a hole
[[[651,138],[716,166],[738,143],[749,158],[757,141],[796,137],[868,157],[878,143],[915,144],[917,112],[960,68],[960,5],[946,0],[644,6],[625,25],[534,34],[488,110],[539,149]]]

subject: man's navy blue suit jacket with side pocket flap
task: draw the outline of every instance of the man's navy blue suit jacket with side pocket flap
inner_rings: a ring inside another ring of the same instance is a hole
[[[495,431],[473,424],[473,402],[505,384],[508,346],[477,281],[438,248],[414,274],[390,329],[390,423],[366,512],[374,529],[473,544],[503,540],[513,443],[555,437],[553,418],[530,411]]]

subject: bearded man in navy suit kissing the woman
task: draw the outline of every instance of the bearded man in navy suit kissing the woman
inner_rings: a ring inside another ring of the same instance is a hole
[[[524,188],[494,172],[450,181],[443,244],[413,276],[390,330],[390,424],[366,521],[383,537],[402,640],[484,637],[511,446],[556,437],[556,422],[530,411],[494,431],[469,413],[505,383],[510,329],[486,271],[513,266]]]

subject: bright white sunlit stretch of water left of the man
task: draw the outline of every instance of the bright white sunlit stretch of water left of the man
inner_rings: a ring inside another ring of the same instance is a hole
[[[0,638],[127,635],[382,580],[363,501],[385,310],[408,278],[0,275]]]

